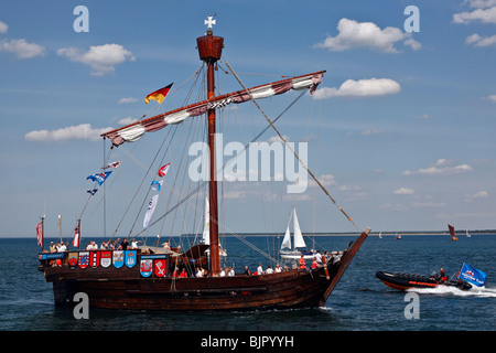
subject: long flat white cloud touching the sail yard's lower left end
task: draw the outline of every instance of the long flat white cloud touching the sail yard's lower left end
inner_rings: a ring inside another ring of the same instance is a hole
[[[26,141],[53,142],[64,140],[100,140],[100,133],[111,130],[112,128],[94,129],[89,124],[69,126],[57,130],[34,130],[24,136]]]

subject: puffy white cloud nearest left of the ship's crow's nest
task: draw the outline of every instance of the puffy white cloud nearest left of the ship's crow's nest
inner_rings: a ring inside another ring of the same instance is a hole
[[[88,65],[95,76],[114,73],[116,65],[136,60],[132,53],[120,44],[91,45],[86,53],[76,47],[63,47],[57,51],[57,55]]]

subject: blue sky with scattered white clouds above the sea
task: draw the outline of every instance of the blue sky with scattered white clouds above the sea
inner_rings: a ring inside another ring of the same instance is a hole
[[[73,29],[79,4],[87,33]],[[405,30],[408,6],[420,11],[419,32]],[[309,143],[310,168],[359,227],[496,227],[496,1],[46,0],[0,3],[0,236],[34,236],[44,213],[47,233],[58,234],[62,214],[63,235],[72,234],[90,189],[85,178],[103,163],[99,132],[183,101],[184,90],[160,107],[143,97],[200,68],[195,39],[207,15],[248,86],[327,71],[278,126]],[[220,81],[223,93],[240,89],[233,77]],[[292,98],[265,108],[274,117]],[[226,130],[245,129],[234,135],[240,141],[266,126],[252,106],[233,115]],[[116,152],[126,163],[108,186],[108,233],[152,153]],[[354,231],[313,185],[272,196],[283,183],[227,184],[225,229],[283,232],[295,205],[303,232]],[[88,207],[96,211],[86,211],[83,232],[99,236],[101,201]]]

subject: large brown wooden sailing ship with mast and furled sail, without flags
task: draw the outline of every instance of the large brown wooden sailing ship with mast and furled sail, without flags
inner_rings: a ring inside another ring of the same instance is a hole
[[[115,147],[139,139],[166,125],[206,114],[211,161],[215,160],[216,108],[281,94],[289,89],[314,90],[323,72],[216,96],[214,64],[220,58],[224,39],[212,29],[197,39],[200,58],[206,64],[207,99],[104,133]],[[186,252],[141,247],[121,250],[41,253],[39,269],[53,284],[56,306],[72,306],[77,292],[88,296],[94,308],[131,310],[268,310],[323,306],[369,233],[363,232],[338,259],[315,270],[289,269],[271,275],[219,276],[218,200],[216,165],[209,164],[209,244]],[[311,173],[309,171],[309,173]],[[311,173],[313,176],[313,174]],[[317,182],[321,186],[322,184]],[[322,186],[323,188],[323,186]],[[324,189],[325,190],[325,189]],[[326,191],[325,191],[326,192]],[[327,196],[334,202],[331,195]],[[335,203],[335,202],[334,202]],[[344,211],[339,207],[344,213]],[[344,213],[345,214],[345,213]],[[345,214],[346,217],[348,217]],[[349,217],[348,217],[349,218]],[[209,249],[209,256],[205,252]],[[233,255],[229,253],[229,256]],[[58,266],[54,260],[58,259]],[[208,260],[208,264],[206,261]],[[187,264],[208,266],[208,276],[174,275]]]

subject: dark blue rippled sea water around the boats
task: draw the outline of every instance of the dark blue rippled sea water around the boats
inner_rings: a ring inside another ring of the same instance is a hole
[[[247,237],[261,249],[277,252],[280,239]],[[316,248],[343,249],[348,236],[317,236]],[[50,242],[50,240],[48,240]],[[239,272],[248,265],[270,264],[234,237],[225,240],[227,266]],[[90,309],[89,319],[77,320],[73,309],[55,308],[52,284],[37,270],[33,238],[0,238],[0,331],[494,331],[496,329],[496,235],[474,234],[452,242],[448,235],[369,236],[321,308],[237,312],[148,312]],[[241,256],[235,258],[235,254]],[[407,318],[406,292],[387,288],[378,270],[430,275],[444,268],[451,275],[467,264],[487,274],[483,288],[468,291],[452,287],[416,289],[418,318]]]

